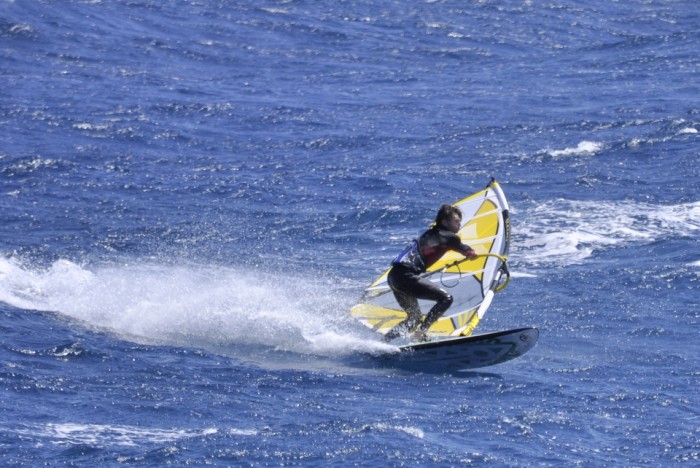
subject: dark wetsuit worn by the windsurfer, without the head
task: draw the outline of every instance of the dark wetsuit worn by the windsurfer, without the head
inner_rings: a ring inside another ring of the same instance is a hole
[[[425,332],[452,305],[452,295],[437,287],[421,274],[447,251],[455,250],[467,254],[473,249],[462,243],[459,236],[437,226],[427,230],[418,240],[414,240],[392,262],[387,281],[394,297],[408,317],[389,330],[384,339],[392,340],[402,333],[418,329]],[[421,311],[418,299],[435,301],[425,320],[421,323]]]

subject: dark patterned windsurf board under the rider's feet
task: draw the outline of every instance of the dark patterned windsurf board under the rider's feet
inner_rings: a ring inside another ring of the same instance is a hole
[[[447,338],[400,346],[400,353],[385,356],[397,367],[412,370],[463,371],[501,364],[522,356],[539,338],[537,328]],[[385,361],[385,362],[386,362]]]

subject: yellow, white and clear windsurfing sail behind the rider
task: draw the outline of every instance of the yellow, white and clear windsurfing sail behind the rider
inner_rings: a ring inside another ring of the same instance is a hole
[[[493,296],[508,284],[508,247],[510,219],[508,202],[498,182],[454,203],[462,211],[457,233],[462,242],[479,255],[467,260],[457,252],[447,252],[424,274],[446,288],[454,298],[447,312],[428,330],[431,338],[470,336],[491,305]],[[366,290],[359,304],[351,309],[353,317],[373,330],[385,334],[406,319],[387,284],[385,271]],[[419,301],[427,312],[432,303]]]

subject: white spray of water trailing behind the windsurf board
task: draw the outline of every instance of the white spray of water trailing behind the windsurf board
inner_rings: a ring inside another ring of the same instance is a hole
[[[348,310],[357,291],[326,277],[221,266],[131,264],[34,269],[0,258],[0,301],[54,311],[156,344],[265,346],[321,356],[386,351]]]

